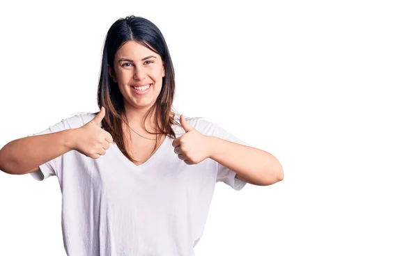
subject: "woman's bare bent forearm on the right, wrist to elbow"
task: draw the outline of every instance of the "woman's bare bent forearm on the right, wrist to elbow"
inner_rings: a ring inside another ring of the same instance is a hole
[[[269,152],[208,136],[212,160],[233,170],[237,179],[258,186],[268,186],[284,178],[283,168]]]

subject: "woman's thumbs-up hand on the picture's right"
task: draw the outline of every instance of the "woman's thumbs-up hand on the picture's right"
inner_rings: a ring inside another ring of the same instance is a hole
[[[209,157],[208,137],[194,129],[192,125],[180,115],[180,125],[186,133],[173,141],[174,152],[178,158],[188,165],[200,163]]]

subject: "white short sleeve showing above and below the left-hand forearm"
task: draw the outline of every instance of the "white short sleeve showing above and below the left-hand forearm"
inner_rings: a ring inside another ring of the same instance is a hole
[[[61,120],[61,122],[57,122],[55,125],[49,126],[48,129],[45,129],[43,131],[39,131],[35,134],[29,134],[29,136],[37,136],[37,135],[43,135],[43,134],[52,134],[54,132],[63,131],[65,129],[73,129],[78,128],[84,125],[86,123],[86,120],[84,120],[84,116],[86,115],[75,115],[67,119]],[[91,119],[91,118],[90,118]],[[55,159],[52,159],[51,161],[47,161],[46,163],[43,163],[39,166],[38,171],[30,173],[30,175],[38,180],[42,181],[44,179],[47,179],[51,176],[60,175],[61,170],[63,167],[63,155],[56,157]]]

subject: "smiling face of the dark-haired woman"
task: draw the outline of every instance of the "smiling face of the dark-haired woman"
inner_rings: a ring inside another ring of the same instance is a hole
[[[161,56],[135,41],[126,42],[108,67],[124,97],[126,109],[148,109],[157,100],[165,76]]]

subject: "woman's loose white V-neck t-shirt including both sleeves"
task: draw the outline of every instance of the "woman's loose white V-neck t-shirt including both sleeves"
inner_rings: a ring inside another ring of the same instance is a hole
[[[48,134],[82,127],[95,117],[82,113],[66,118]],[[179,120],[180,115],[176,115]],[[191,118],[189,124],[208,136],[248,145],[215,122]],[[100,124],[101,127],[101,124]],[[173,125],[176,137],[185,134]],[[71,150],[31,173],[37,180],[56,175],[62,193],[65,251],[72,256],[192,256],[203,234],[216,182],[235,191],[246,182],[212,159],[187,165],[173,152],[166,136],[148,161],[136,166],[111,143],[98,159]]]

